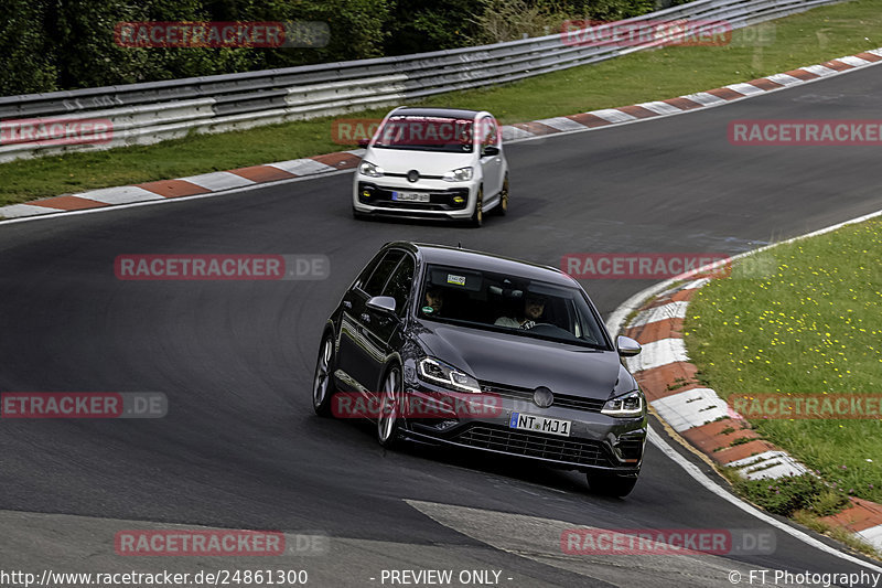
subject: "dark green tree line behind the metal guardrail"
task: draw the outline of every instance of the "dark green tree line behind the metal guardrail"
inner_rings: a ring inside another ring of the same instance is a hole
[[[406,55],[553,34],[687,0],[0,0],[0,95]],[[319,22],[316,46],[127,46],[123,22]],[[321,45],[321,46],[319,46]]]

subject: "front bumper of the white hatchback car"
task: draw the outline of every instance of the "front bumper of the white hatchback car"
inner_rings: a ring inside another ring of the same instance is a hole
[[[429,202],[398,201],[395,192],[428,194]],[[465,182],[421,180],[410,183],[398,178],[368,179],[356,174],[353,207],[362,214],[464,220],[474,212],[476,193],[475,185]]]

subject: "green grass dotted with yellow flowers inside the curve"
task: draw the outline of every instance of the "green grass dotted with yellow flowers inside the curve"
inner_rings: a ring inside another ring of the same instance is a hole
[[[882,221],[778,245],[699,290],[690,357],[722,397],[882,396]],[[882,502],[882,420],[754,419],[831,490]]]

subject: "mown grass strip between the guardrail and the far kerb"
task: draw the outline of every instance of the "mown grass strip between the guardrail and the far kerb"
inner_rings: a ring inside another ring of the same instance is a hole
[[[882,0],[856,0],[774,22],[770,46],[679,46],[630,54],[515,84],[452,93],[422,104],[481,108],[503,124],[664,99],[882,46]],[[763,26],[763,25],[760,25]],[[768,26],[768,24],[765,24]],[[735,32],[738,40],[743,32]],[[347,117],[380,117],[384,110]],[[0,205],[95,188],[178,178],[346,149],[333,118],[154,146],[0,164]]]

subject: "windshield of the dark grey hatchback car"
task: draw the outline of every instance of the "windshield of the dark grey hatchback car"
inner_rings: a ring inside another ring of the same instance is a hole
[[[577,287],[492,271],[430,265],[417,316],[610,350],[599,319]]]

